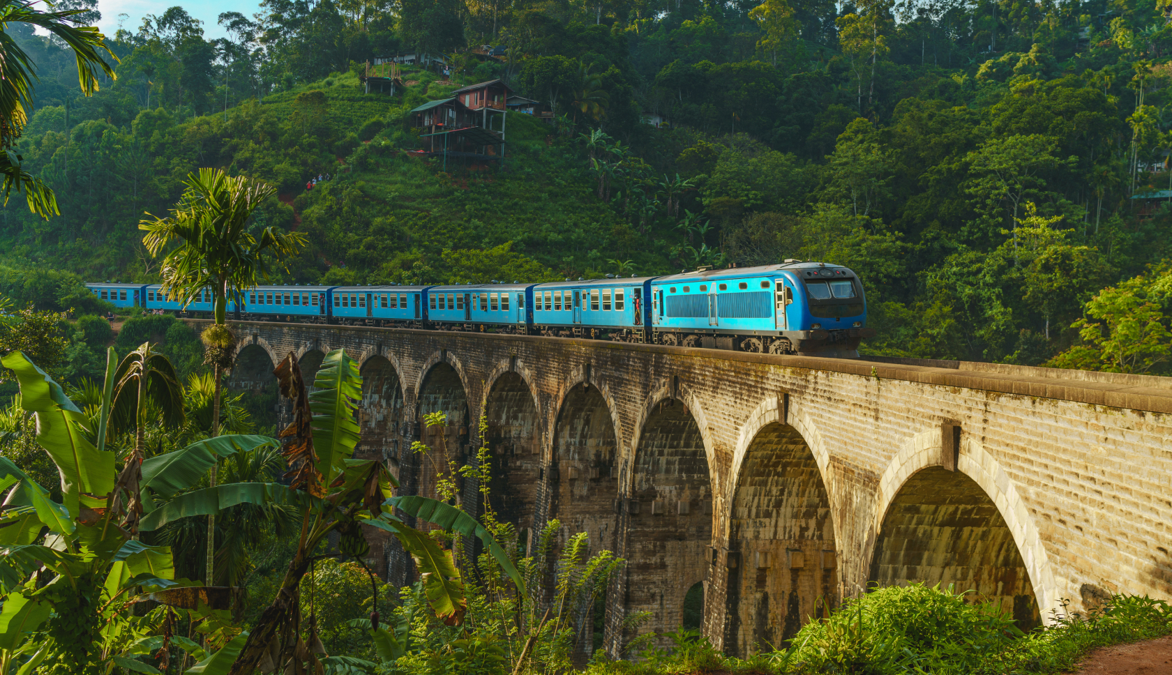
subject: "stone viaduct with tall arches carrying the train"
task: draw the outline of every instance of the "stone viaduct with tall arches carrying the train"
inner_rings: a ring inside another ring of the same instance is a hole
[[[622,618],[646,611],[643,629],[700,623],[743,655],[870,584],[975,589],[1023,622],[1064,599],[1172,598],[1172,379],[232,328],[237,390],[272,396],[289,352],[311,377],[331,349],[356,359],[359,452],[388,459],[404,491],[434,491],[436,462],[473,455],[483,415],[500,518],[526,536],[557,518],[627,559],[606,598],[612,650]],[[438,410],[447,427],[420,424]],[[434,456],[407,451],[416,439]],[[463,491],[475,509],[476,486]],[[391,581],[410,574],[394,543],[370,555]]]

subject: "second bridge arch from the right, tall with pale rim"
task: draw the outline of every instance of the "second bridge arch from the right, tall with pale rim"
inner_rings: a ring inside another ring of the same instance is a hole
[[[789,410],[786,409],[789,408]],[[798,401],[763,401],[741,429],[724,510],[727,653],[769,650],[840,601],[829,457]],[[713,626],[709,626],[711,633]]]

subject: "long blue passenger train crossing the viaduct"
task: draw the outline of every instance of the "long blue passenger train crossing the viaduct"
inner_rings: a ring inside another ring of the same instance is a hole
[[[89,284],[100,299],[198,315],[211,292],[182,306],[158,285]],[[229,304],[241,320],[491,330],[709,347],[769,354],[858,356],[873,334],[858,275],[846,267],[701,268],[667,277],[456,286],[259,286]]]

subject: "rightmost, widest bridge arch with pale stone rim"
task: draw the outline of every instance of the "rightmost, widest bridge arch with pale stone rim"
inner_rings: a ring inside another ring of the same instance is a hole
[[[1057,606],[1054,572],[1014,482],[975,438],[962,435],[956,471],[940,465],[941,435],[918,434],[879,483],[868,579],[924,581],[1000,601],[1018,626]]]

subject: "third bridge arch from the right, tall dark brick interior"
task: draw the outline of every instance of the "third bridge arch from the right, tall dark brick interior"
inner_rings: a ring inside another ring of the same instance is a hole
[[[675,389],[665,383],[640,411],[622,486],[639,505],[627,509],[626,608],[650,612],[646,629],[660,633],[703,612],[713,540],[707,418],[689,390]]]

